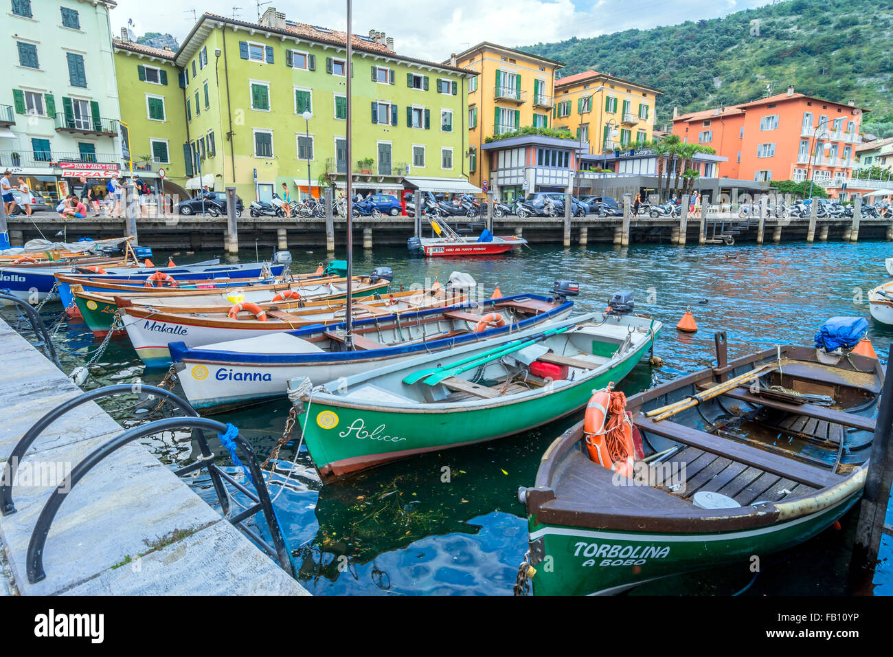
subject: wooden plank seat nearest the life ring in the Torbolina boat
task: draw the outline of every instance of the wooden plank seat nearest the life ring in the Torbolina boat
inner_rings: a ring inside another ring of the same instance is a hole
[[[713,434],[707,434],[705,431],[692,429],[689,426],[680,425],[671,420],[655,422],[639,414],[633,418],[633,421],[642,431],[662,435],[672,441],[681,442],[690,447],[696,447],[699,450],[710,452],[711,454],[716,454],[746,466],[758,468],[772,475],[812,486],[813,488],[825,488],[837,484],[843,479],[842,476],[832,474],[827,470],[822,470],[794,459],[787,459],[778,454],[740,444],[739,442],[732,442],[729,439],[720,438]],[[690,476],[692,476],[691,473],[689,473]]]

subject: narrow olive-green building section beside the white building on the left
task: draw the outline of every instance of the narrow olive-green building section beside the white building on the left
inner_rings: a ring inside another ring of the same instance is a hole
[[[179,86],[174,52],[113,38],[121,121],[128,126],[135,175],[165,194],[186,198],[186,97]],[[161,173],[164,174],[163,182]]]

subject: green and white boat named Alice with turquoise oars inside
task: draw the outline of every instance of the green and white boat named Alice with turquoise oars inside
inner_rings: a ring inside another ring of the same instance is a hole
[[[518,434],[586,405],[651,349],[661,324],[598,313],[326,383],[288,382],[321,478]],[[545,376],[547,372],[554,376]]]

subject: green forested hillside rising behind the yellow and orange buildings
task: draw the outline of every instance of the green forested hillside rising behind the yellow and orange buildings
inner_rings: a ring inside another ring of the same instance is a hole
[[[891,0],[787,0],[722,19],[519,47],[565,63],[563,75],[591,68],[661,89],[658,125],[673,106],[732,105],[765,96],[767,85],[780,93],[793,84],[808,95],[855,98],[872,110],[869,130],[893,135],[891,28]]]

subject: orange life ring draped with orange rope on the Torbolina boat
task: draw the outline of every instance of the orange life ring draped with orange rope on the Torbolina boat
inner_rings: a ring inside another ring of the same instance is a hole
[[[613,383],[597,390],[586,406],[583,425],[589,459],[622,476],[633,475],[636,447],[632,422],[626,413],[626,395],[613,392]]]

